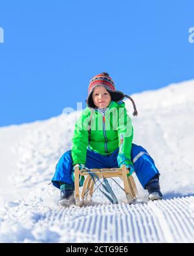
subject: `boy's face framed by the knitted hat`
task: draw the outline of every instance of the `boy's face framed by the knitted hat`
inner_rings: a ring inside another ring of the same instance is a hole
[[[106,108],[111,102],[111,95],[103,86],[97,86],[92,93],[92,100],[96,107]]]

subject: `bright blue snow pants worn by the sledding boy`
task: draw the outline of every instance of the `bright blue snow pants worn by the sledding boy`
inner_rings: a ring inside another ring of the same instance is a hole
[[[102,156],[93,150],[87,149],[85,167],[92,168],[118,168],[117,156],[119,148],[116,148],[109,156]],[[155,167],[155,162],[149,156],[146,149],[142,146],[132,144],[131,159],[135,167],[135,173],[142,184],[142,187],[146,187],[146,184],[156,174],[160,175],[158,169]],[[74,186],[71,174],[73,172],[71,150],[65,152],[56,165],[56,172],[52,178],[52,184],[59,189],[59,182],[67,183]]]

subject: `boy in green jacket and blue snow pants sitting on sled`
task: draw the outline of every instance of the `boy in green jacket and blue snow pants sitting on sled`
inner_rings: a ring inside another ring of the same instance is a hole
[[[89,82],[87,108],[76,122],[72,150],[61,156],[52,183],[61,191],[61,200],[69,200],[74,192],[74,166],[80,169],[116,168],[125,165],[129,175],[136,172],[147,189],[149,200],[162,199],[159,172],[147,151],[132,143],[133,126],[122,101],[131,97],[116,91],[108,73],[94,76]],[[83,178],[83,177],[81,177]],[[80,180],[83,185],[83,180]]]

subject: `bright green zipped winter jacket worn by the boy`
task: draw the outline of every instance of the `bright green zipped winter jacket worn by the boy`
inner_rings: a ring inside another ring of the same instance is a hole
[[[91,126],[89,123],[91,122]],[[91,129],[89,128],[91,127]],[[73,165],[85,165],[87,147],[103,156],[107,156],[119,148],[118,166],[132,163],[131,146],[133,141],[133,126],[131,117],[127,114],[124,102],[111,101],[105,114],[98,110],[85,108],[75,125],[72,138]]]

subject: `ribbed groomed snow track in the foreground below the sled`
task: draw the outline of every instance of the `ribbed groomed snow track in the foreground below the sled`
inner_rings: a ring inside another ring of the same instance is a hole
[[[40,222],[65,231],[61,242],[193,242],[194,197],[135,205],[59,207]]]

